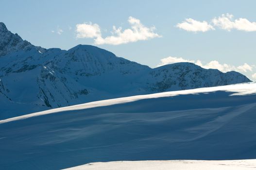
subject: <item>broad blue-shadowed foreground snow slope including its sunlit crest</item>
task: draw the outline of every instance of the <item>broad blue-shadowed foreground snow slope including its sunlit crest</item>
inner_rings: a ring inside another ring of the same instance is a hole
[[[256,83],[140,95],[0,121],[1,169],[256,158]]]

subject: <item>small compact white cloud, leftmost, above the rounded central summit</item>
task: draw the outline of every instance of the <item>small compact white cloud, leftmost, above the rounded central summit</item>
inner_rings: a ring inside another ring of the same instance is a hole
[[[76,37],[77,38],[95,38],[101,37],[101,29],[98,24],[84,23],[76,24]]]

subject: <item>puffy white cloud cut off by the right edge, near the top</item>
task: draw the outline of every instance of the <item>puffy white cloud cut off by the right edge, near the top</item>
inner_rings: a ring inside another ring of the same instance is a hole
[[[231,31],[232,29],[240,31],[256,31],[256,22],[250,22],[246,18],[233,19],[231,14],[222,14],[221,17],[215,17],[212,22],[215,26],[220,27],[223,30]]]

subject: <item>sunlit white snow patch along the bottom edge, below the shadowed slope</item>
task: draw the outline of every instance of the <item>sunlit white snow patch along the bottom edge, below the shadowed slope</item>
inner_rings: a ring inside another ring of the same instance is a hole
[[[169,161],[117,161],[88,163],[66,170],[252,170],[256,159],[249,160],[169,160]]]

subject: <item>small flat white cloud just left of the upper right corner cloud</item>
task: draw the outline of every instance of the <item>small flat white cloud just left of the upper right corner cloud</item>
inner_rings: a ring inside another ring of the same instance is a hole
[[[176,27],[190,32],[206,32],[210,30],[215,30],[213,26],[208,24],[206,21],[201,22],[192,18],[187,18],[186,21],[178,23]]]

